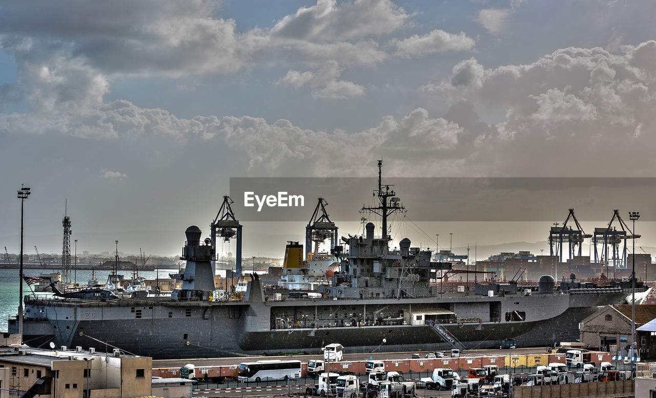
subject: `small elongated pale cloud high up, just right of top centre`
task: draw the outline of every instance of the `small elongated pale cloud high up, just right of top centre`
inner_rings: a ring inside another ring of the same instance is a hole
[[[459,34],[434,30],[425,35],[413,35],[407,39],[392,39],[390,45],[396,47],[395,55],[411,58],[441,51],[465,51],[474,48],[474,39],[464,32]]]

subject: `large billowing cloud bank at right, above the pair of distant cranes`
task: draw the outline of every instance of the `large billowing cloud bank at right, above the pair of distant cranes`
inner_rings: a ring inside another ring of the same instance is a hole
[[[656,144],[655,67],[656,41],[623,46],[619,54],[568,47],[530,64],[489,69],[470,58],[422,89],[500,116],[493,129],[477,129],[487,150],[476,161],[487,162],[488,173],[651,175],[645,148]],[[630,170],[600,162],[611,152],[646,161]],[[554,154],[567,166],[554,164]]]

